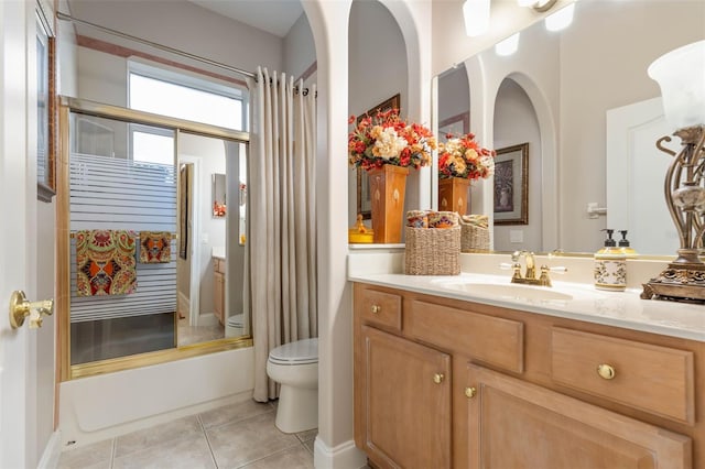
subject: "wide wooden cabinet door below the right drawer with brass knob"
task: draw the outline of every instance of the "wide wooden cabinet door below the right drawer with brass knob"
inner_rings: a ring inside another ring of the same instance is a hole
[[[473,364],[467,386],[470,468],[692,467],[686,436]]]

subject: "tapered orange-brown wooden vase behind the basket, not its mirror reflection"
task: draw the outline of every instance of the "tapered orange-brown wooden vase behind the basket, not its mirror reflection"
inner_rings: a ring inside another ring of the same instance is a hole
[[[373,242],[401,242],[408,167],[386,164],[368,171]]]

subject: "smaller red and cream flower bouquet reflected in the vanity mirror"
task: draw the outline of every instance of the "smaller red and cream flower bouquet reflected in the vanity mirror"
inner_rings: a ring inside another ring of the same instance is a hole
[[[465,179],[487,178],[495,174],[494,150],[484,149],[475,141],[475,134],[462,137],[447,134],[445,143],[438,144],[438,177]]]

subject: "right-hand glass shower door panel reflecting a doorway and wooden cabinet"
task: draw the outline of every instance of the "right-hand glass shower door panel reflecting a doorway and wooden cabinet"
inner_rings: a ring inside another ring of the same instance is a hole
[[[245,144],[180,133],[178,164],[193,172],[189,184],[180,184],[180,212],[191,214],[186,236],[193,242],[186,259],[178,260],[178,346],[249,334],[240,242],[247,206],[240,199],[240,209],[226,209],[226,194],[239,194],[246,181],[246,150]],[[216,204],[221,215],[216,216]]]

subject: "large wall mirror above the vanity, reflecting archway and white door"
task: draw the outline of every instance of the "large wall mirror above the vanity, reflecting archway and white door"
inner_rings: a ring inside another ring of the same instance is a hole
[[[481,144],[529,144],[528,222],[495,226],[495,250],[595,252],[612,228],[629,230],[642,254],[674,253],[669,161],[654,144],[675,129],[664,127],[647,68],[704,37],[704,2],[579,1],[566,30],[538,22],[514,54],[492,47],[438,76],[440,126],[467,112]],[[494,211],[490,184],[474,184],[473,212]]]

